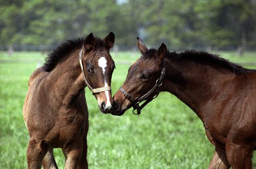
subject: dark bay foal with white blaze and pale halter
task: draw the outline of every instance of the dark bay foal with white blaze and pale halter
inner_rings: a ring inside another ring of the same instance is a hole
[[[30,139],[28,169],[56,169],[53,148],[65,155],[65,169],[86,169],[88,108],[84,88],[88,86],[102,113],[112,105],[111,76],[115,63],[109,49],[114,33],[103,40],[89,34],[56,48],[43,67],[28,82],[23,118]]]

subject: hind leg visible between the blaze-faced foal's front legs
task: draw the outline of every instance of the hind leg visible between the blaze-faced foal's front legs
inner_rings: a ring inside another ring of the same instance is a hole
[[[54,159],[54,150],[49,149],[42,161],[43,169],[58,169],[57,163]]]

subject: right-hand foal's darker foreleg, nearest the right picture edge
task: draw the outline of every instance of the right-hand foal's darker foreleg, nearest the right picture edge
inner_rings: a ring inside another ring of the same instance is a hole
[[[253,147],[249,144],[226,143],[229,163],[233,169],[252,169]]]

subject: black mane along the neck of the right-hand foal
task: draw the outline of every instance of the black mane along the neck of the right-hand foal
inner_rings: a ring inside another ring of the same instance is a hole
[[[170,53],[170,52],[169,52]],[[246,69],[236,63],[231,63],[229,60],[220,57],[219,55],[210,54],[204,51],[186,50],[178,54],[180,58],[194,61],[196,63],[217,65],[218,67],[229,69],[236,75],[244,75],[255,72],[254,69]]]

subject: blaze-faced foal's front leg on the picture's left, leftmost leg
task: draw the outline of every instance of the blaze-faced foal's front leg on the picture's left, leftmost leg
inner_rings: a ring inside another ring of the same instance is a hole
[[[30,138],[27,146],[27,168],[40,169],[42,160],[47,153],[47,145],[43,140]]]

